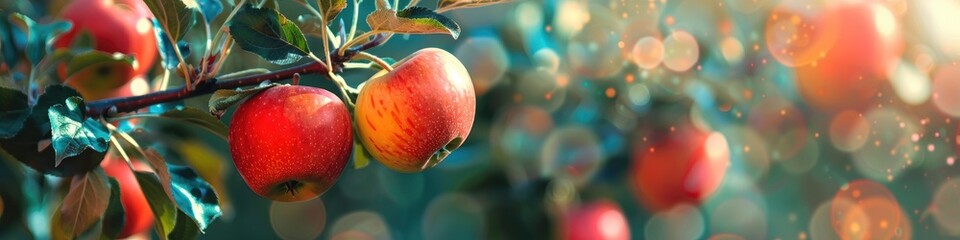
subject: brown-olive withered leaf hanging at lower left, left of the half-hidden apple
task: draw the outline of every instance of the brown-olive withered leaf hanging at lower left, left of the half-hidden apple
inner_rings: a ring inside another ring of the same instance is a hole
[[[67,236],[77,237],[100,220],[109,203],[110,186],[102,170],[76,175],[60,206],[60,227]]]

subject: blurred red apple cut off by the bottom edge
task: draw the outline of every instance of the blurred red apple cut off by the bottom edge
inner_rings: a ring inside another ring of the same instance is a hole
[[[616,203],[599,201],[580,206],[568,212],[563,221],[563,239],[567,240],[626,240],[630,226]]]

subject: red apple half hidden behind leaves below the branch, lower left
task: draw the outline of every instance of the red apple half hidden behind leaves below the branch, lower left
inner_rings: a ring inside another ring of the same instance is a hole
[[[137,171],[153,172],[146,163],[141,161],[132,161],[132,163]],[[107,176],[116,178],[117,183],[120,184],[120,204],[123,205],[126,219],[117,238],[126,238],[150,229],[150,226],[153,226],[153,211],[150,210],[150,204],[140,190],[140,183],[137,182],[126,161],[107,155],[107,158],[100,162],[100,167],[103,167]]]

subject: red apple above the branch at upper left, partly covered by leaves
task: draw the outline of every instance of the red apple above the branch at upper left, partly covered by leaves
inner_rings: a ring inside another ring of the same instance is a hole
[[[157,39],[153,33],[153,15],[140,0],[74,0],[64,7],[61,16],[73,22],[73,28],[55,42],[55,47],[66,48],[81,32],[93,38],[95,50],[132,55],[137,60],[133,68],[103,68],[98,75],[115,74],[104,83],[101,78],[85,77],[70,80],[71,86],[123,86],[136,76],[146,74],[157,57]],[[95,82],[100,81],[100,82]]]

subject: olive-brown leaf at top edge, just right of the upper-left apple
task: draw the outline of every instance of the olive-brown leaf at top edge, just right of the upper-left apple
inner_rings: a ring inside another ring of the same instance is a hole
[[[150,8],[150,12],[153,12],[160,26],[173,38],[171,42],[180,41],[196,23],[195,10],[199,6],[194,0],[143,0],[143,2]]]

